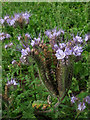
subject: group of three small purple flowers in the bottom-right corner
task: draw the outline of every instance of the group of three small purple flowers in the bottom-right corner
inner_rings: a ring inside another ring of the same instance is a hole
[[[79,111],[83,111],[83,110],[86,108],[85,103],[90,104],[90,96],[86,96],[86,97],[83,99],[83,102],[80,102],[80,100],[79,100],[77,97],[72,96],[72,97],[71,97],[71,104],[75,103],[76,101],[78,101],[78,110],[79,110]]]

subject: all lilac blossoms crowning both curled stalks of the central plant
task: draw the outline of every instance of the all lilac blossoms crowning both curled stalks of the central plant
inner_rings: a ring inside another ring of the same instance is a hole
[[[53,51],[55,52],[55,56],[58,60],[61,60],[62,63],[64,64],[68,64],[68,57],[69,56],[81,56],[81,53],[83,52],[83,48],[85,46],[84,43],[86,43],[88,41],[88,35],[86,35],[84,38],[76,35],[73,37],[71,36],[71,40],[64,40],[64,38],[62,38],[62,36],[64,36],[65,31],[63,30],[56,30],[56,28],[54,30],[47,30],[45,31],[45,35],[48,36],[49,38],[49,43],[51,45],[51,48],[53,49]],[[29,39],[30,41],[28,42],[27,39]],[[63,40],[62,40],[63,39]],[[21,56],[21,60],[22,58],[24,58],[24,61],[26,61],[26,56],[28,55],[27,53],[27,48],[29,48],[29,45],[31,45],[34,49],[40,47],[40,45],[43,45],[43,40],[41,40],[41,37],[39,36],[38,38],[33,38],[33,40],[31,39],[30,34],[26,33],[24,35],[24,39],[21,35],[18,36],[18,40],[21,40],[22,45],[25,49],[22,49],[21,53],[23,56]],[[27,41],[27,44],[25,43],[25,40]],[[37,46],[37,47],[36,47]],[[29,51],[30,52],[30,51]]]

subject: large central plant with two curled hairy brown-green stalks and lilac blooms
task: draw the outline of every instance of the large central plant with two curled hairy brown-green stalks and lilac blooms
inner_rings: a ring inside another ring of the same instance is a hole
[[[38,65],[40,79],[49,92],[61,100],[70,88],[74,61],[81,56],[88,36],[82,38],[73,35],[71,40],[65,40],[65,32],[56,28],[45,31],[45,34],[49,38],[48,43],[40,35],[33,40],[29,34],[25,34],[24,38],[18,36],[23,46],[20,61],[29,64],[31,56]]]

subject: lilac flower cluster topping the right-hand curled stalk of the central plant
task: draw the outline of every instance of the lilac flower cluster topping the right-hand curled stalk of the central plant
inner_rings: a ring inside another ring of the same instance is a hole
[[[70,55],[80,56],[83,52],[83,43],[88,41],[88,35],[85,36],[84,39],[80,36],[73,36],[69,41],[63,41],[60,37],[61,33],[65,33],[63,30],[56,31],[56,29],[52,31],[46,31],[45,34],[50,39],[50,44],[52,49],[56,52],[56,57],[58,60],[66,59]],[[58,37],[60,37],[58,41]]]

